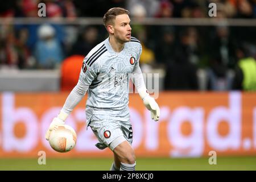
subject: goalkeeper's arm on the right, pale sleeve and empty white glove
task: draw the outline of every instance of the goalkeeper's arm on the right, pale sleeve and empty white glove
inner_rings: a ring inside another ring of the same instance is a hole
[[[137,60],[134,65],[133,69],[133,82],[135,85],[135,88],[138,90],[139,96],[141,96],[143,100],[143,104],[147,107],[148,110],[151,112],[151,118],[155,121],[159,120],[160,117],[160,108],[158,104],[156,103],[155,99],[153,97],[150,97],[150,94],[147,92],[146,85],[143,80],[143,75],[141,68],[139,67],[139,57],[141,56],[142,47],[139,45],[138,49],[138,56]]]

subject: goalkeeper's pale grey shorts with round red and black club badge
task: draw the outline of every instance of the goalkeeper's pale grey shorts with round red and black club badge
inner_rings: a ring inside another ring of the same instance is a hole
[[[125,140],[130,144],[133,143],[133,130],[130,120],[118,121],[105,115],[93,115],[90,118],[89,126],[99,141],[96,147],[101,150],[106,147],[114,150]]]

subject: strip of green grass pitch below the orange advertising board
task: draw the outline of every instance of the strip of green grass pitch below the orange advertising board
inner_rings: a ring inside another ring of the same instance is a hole
[[[0,170],[109,170],[110,158],[46,159],[39,165],[38,159],[0,159]],[[138,158],[139,170],[256,170],[256,156],[218,157],[217,164],[210,165],[208,158]]]

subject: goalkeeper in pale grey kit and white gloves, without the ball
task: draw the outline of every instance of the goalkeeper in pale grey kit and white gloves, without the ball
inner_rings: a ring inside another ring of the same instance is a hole
[[[129,11],[114,7],[103,18],[109,37],[94,47],[82,63],[79,81],[46,133],[65,119],[88,92],[86,123],[96,135],[101,150],[109,147],[114,154],[112,171],[134,171],[136,166],[133,131],[129,114],[129,75],[151,118],[159,120],[160,109],[144,84],[139,57],[142,46],[131,36]]]

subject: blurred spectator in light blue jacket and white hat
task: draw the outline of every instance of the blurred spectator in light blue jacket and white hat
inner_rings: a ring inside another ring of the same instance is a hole
[[[55,29],[47,24],[39,27],[40,40],[36,43],[34,55],[37,67],[43,69],[56,68],[63,60],[63,50],[60,42],[55,38]]]

